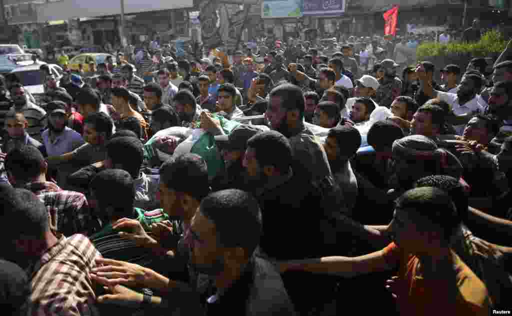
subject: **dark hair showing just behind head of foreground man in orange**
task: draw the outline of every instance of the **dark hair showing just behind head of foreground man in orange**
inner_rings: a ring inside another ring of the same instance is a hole
[[[415,182],[414,188],[421,187],[438,188],[449,194],[460,219],[464,221],[467,218],[468,194],[458,179],[449,175],[429,175]]]

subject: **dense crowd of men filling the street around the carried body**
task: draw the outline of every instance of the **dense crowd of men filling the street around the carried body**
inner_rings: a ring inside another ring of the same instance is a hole
[[[6,314],[510,310],[512,41],[442,84],[349,43],[154,49],[43,64],[37,102],[0,78]]]

